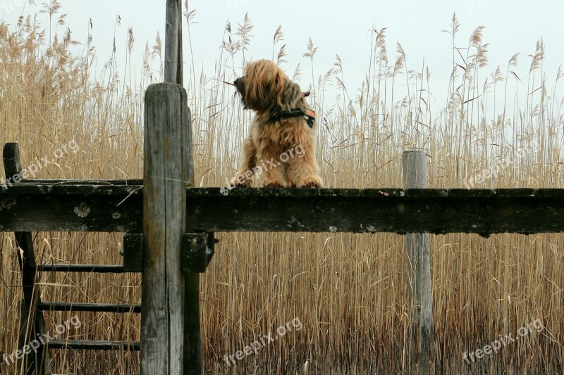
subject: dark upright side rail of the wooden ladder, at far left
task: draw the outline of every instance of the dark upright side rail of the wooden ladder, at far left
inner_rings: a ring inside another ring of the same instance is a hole
[[[2,158],[7,180],[17,181],[17,176],[22,172],[18,144],[5,144]],[[11,202],[9,198],[8,202]],[[5,203],[6,200],[0,201],[0,211]],[[16,210],[14,214],[17,215],[18,211]],[[20,305],[18,346],[23,348],[24,345],[34,340],[36,335],[41,336],[45,333],[45,322],[43,313],[37,309],[37,303],[41,303],[41,293],[35,285],[37,282],[37,271],[35,268],[35,250],[33,248],[32,234],[30,231],[14,231],[14,236],[16,237],[18,264],[22,274],[23,300]],[[33,354],[30,353],[23,357],[23,368],[26,374],[51,375],[49,352],[44,349],[44,345],[39,345],[39,348]]]

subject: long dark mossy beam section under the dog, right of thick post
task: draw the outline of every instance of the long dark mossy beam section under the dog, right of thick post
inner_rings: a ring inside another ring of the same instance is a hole
[[[187,231],[564,231],[563,190],[235,190],[189,189]]]

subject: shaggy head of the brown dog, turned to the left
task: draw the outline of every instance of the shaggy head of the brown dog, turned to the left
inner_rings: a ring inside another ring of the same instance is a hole
[[[278,65],[269,60],[247,63],[245,75],[235,82],[245,108],[269,112],[275,116],[281,110],[300,106],[302,91],[290,81]]]

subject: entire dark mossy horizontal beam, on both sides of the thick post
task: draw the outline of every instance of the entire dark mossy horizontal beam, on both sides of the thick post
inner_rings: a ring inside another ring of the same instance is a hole
[[[142,186],[0,187],[0,231],[142,232]],[[564,189],[188,188],[186,231],[564,232]]]

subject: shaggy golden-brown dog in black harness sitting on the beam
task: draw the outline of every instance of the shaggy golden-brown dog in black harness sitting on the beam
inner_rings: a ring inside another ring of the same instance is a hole
[[[321,187],[315,161],[317,125],[298,84],[268,60],[248,63],[234,84],[245,108],[256,114],[231,185],[250,186],[256,175],[259,186]]]

